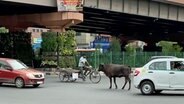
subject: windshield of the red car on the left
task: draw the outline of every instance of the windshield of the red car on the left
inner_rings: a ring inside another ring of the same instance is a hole
[[[14,70],[27,69],[28,67],[19,60],[8,60],[8,63]]]

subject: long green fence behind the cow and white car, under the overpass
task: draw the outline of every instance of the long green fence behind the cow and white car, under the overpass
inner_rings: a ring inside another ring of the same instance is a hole
[[[126,64],[132,67],[140,67],[147,63],[152,56],[176,56],[183,58],[183,52],[170,52],[170,53],[163,53],[163,52],[136,52],[136,53],[86,53],[87,59],[89,63],[97,68],[100,63],[108,64]],[[77,55],[76,60],[79,60],[80,56]]]

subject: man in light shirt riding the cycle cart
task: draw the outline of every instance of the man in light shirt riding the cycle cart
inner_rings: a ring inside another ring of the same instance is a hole
[[[84,68],[87,67],[87,66],[90,66],[87,59],[86,59],[86,56],[85,55],[82,55],[79,59],[79,64],[78,64],[78,67],[80,69],[80,72],[81,72],[81,75],[82,75],[82,79],[85,81],[85,76],[84,76]],[[85,72],[86,73],[86,72]]]

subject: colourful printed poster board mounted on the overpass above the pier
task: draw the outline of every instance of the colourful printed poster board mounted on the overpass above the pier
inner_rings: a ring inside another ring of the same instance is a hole
[[[84,0],[57,0],[58,11],[82,11]]]

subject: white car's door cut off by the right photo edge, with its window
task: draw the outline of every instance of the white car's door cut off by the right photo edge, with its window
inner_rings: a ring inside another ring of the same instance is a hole
[[[184,89],[184,61],[175,61],[175,63],[177,63],[179,67],[170,68],[170,87],[173,89]]]

